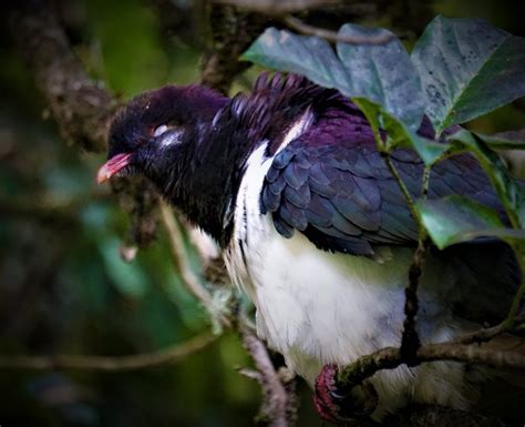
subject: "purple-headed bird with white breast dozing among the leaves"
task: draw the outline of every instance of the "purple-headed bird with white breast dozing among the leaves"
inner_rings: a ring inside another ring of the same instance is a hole
[[[419,133],[435,138],[426,118]],[[405,148],[391,159],[409,193],[421,196],[422,160]],[[292,73],[262,72],[249,93],[233,98],[197,84],[162,87],[132,99],[111,124],[97,181],[127,174],[151,180],[217,242],[233,283],[256,307],[258,335],[315,388],[323,419],[347,419],[333,376],[400,345],[418,243],[363,113],[337,90]],[[470,154],[431,170],[428,197],[452,194],[505,217]],[[513,251],[496,238],[432,246],[419,288],[421,340],[500,322],[521,279]],[[467,410],[488,376],[453,362],[382,370],[368,379],[379,399],[371,416],[410,403]]]

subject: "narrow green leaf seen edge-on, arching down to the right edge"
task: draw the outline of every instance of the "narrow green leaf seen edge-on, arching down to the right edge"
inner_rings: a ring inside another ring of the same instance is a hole
[[[459,150],[473,153],[494,185],[515,228],[525,227],[525,194],[523,186],[509,174],[502,159],[475,133],[461,130],[447,136]]]

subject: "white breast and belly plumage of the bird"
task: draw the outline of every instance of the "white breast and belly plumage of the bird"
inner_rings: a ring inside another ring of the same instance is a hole
[[[303,115],[282,145],[310,121],[311,116]],[[266,148],[265,142],[248,159],[225,261],[234,282],[256,305],[258,334],[284,354],[290,368],[313,384],[327,363],[347,365],[375,349],[399,345],[412,252],[391,251],[380,264],[319,251],[297,231],[289,240],[282,237],[271,216],[260,214],[260,192],[272,162],[265,156]],[[428,339],[445,340],[451,334],[443,326]],[[381,406],[374,415],[380,418],[403,405],[408,396],[465,408],[462,376],[462,366],[452,363],[375,374]]]

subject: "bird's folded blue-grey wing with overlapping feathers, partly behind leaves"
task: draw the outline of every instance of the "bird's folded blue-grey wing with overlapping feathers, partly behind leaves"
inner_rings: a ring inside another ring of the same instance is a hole
[[[393,162],[409,192],[419,197],[423,164],[410,150]],[[429,197],[467,195],[498,207],[477,162],[457,155],[433,167]],[[297,230],[318,247],[372,255],[374,245],[413,245],[416,227],[398,183],[375,150],[366,122],[337,118],[316,123],[277,152],[265,177],[261,210],[276,230]]]

